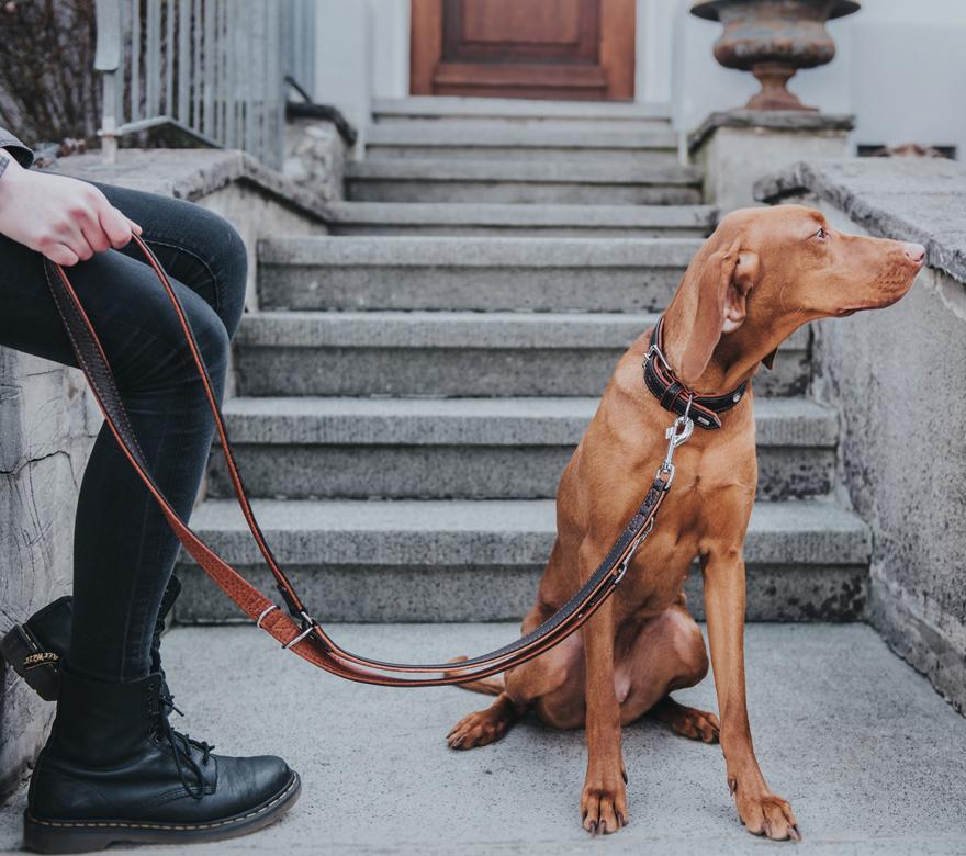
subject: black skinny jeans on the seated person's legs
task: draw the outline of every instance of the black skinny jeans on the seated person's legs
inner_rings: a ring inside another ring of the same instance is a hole
[[[215,392],[224,393],[229,340],[245,303],[247,257],[237,232],[190,202],[98,185],[141,224],[181,299]],[[68,269],[103,343],[151,472],[188,519],[214,420],[164,289],[134,247]],[[0,345],[77,365],[40,254],[0,236]],[[149,672],[175,537],[106,426],[85,470],[74,532],[71,668],[100,680]]]

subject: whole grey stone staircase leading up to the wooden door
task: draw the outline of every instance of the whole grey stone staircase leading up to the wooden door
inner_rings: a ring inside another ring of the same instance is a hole
[[[716,212],[661,105],[381,101],[367,139],[333,234],[259,248],[229,433],[318,618],[518,619],[559,475]],[[753,620],[865,610],[869,533],[832,499],[838,420],[809,380],[800,330],[754,382]],[[271,585],[217,454],[192,523]],[[181,574],[180,621],[236,618],[198,568]]]

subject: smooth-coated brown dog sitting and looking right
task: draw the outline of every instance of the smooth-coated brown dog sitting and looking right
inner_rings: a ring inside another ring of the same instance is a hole
[[[698,394],[724,393],[771,365],[802,324],[888,306],[910,289],[925,250],[918,244],[845,235],[797,205],[729,214],[693,259],[664,313],[664,353]],[[650,331],[649,331],[650,333]],[[529,632],[594,572],[631,517],[667,447],[674,415],[641,380],[649,334],[625,353],[557,494],[557,542],[524,620]],[[548,725],[586,725],[583,825],[619,830],[628,818],[621,725],[649,711],[676,732],[715,742],[714,713],[670,692],[701,680],[708,656],[682,585],[695,556],[705,605],[720,741],[738,814],[749,831],[798,838],[791,807],[759,769],[744,689],[742,547],[757,482],[753,396],[696,427],[675,455],[673,489],[615,595],[562,644],[470,688],[497,695],[448,736],[453,748],[492,743],[528,710]]]

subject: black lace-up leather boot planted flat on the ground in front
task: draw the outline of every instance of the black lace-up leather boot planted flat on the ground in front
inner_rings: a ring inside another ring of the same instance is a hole
[[[292,807],[297,774],[272,756],[213,755],[175,731],[162,683],[158,673],[105,684],[61,668],[57,717],[24,812],[29,849],[220,841],[267,826]]]

